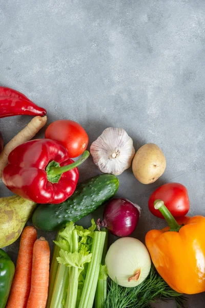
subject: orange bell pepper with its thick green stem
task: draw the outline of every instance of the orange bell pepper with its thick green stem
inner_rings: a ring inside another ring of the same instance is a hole
[[[204,292],[205,217],[185,217],[179,225],[163,201],[156,200],[154,207],[169,224],[146,235],[146,246],[157,272],[179,293]]]

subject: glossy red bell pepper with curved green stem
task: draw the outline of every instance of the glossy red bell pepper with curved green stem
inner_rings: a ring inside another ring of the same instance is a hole
[[[36,139],[17,146],[8,157],[3,182],[25,199],[36,203],[61,203],[75,191],[78,165],[89,156],[85,151],[76,162],[67,149],[51,139]]]

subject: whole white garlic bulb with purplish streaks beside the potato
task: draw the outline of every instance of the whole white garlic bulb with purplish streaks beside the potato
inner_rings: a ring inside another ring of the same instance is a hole
[[[101,172],[117,176],[131,166],[135,149],[125,129],[109,127],[91,144],[90,153]]]

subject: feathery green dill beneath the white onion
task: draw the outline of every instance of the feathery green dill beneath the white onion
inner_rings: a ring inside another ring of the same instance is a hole
[[[177,308],[186,307],[186,297],[174,291],[152,264],[149,276],[136,287],[123,287],[110,281],[104,308],[150,308],[150,302],[175,299]]]

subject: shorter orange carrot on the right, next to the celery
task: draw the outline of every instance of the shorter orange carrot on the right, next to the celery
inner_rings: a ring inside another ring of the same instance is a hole
[[[50,248],[44,237],[35,241],[31,274],[31,291],[27,308],[45,308],[48,297]]]

